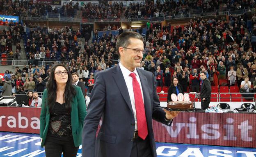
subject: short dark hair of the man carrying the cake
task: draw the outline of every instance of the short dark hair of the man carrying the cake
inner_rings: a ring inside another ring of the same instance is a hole
[[[121,33],[121,35],[119,35],[117,38],[117,44],[116,44],[116,50],[119,56],[120,56],[119,47],[127,47],[128,45],[130,45],[131,44],[130,38],[139,39],[142,42],[144,42],[144,38],[142,37],[142,35],[140,35],[137,32],[127,31],[127,32]]]

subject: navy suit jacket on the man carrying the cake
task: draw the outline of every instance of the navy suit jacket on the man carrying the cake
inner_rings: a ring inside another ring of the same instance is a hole
[[[165,120],[165,111],[160,107],[153,74],[142,69],[137,72],[144,95],[150,146],[156,157],[152,119],[169,126],[171,123]],[[132,87],[126,86],[119,64],[95,76],[82,133],[83,157],[130,157],[135,119],[128,88]],[[100,120],[101,129],[95,138]]]

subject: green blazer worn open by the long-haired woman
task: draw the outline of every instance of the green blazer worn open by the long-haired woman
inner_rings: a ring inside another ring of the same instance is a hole
[[[78,86],[74,86],[74,88],[76,95],[73,97],[73,103],[71,104],[71,128],[75,147],[78,147],[82,143],[82,128],[86,116],[86,104],[81,88]],[[47,96],[48,91],[45,89],[43,91],[40,115],[40,137],[42,138],[41,147],[44,146],[50,121],[49,106],[46,106]]]

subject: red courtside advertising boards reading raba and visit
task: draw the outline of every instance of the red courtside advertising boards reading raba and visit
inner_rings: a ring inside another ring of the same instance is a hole
[[[0,107],[0,131],[38,134],[40,112]],[[255,119],[254,113],[181,112],[171,126],[153,120],[153,130],[157,142],[256,148]]]

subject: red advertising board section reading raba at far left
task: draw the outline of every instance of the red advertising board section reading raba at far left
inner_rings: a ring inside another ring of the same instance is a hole
[[[41,108],[0,107],[0,131],[40,132]]]

